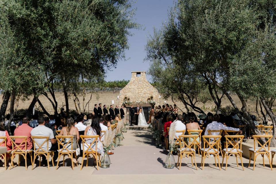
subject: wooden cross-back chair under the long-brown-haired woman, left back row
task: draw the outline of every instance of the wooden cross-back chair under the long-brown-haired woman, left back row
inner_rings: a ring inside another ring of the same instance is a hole
[[[58,163],[59,163],[61,156],[63,156],[63,166],[64,166],[65,155],[68,155],[68,157],[71,159],[72,169],[74,170],[73,155],[75,155],[75,157],[77,158],[76,150],[73,150],[74,136],[72,136],[72,135],[56,135],[55,137],[57,139],[57,146],[58,146],[57,167],[55,168],[55,170],[57,170],[57,168],[59,166]],[[64,142],[64,140],[66,138],[69,139],[69,141],[67,143]]]

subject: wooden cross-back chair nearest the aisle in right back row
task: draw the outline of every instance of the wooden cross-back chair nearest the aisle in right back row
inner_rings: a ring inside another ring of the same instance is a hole
[[[193,166],[193,160],[195,162],[196,166],[196,150],[194,149],[196,146],[196,138],[197,135],[179,135],[179,141],[180,141],[180,148],[178,149],[178,160],[177,160],[177,166],[179,166],[179,170],[181,168],[181,160],[184,155],[191,156],[191,164]],[[188,140],[188,143],[186,140]],[[187,156],[187,157],[188,157]],[[179,162],[180,159],[180,162]],[[198,170],[198,167],[196,166],[196,170]]]

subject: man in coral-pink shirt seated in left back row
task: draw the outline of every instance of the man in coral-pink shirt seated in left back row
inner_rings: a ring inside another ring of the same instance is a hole
[[[29,118],[27,116],[25,116],[22,119],[22,125],[17,127],[14,130],[14,135],[15,136],[27,136],[27,150],[31,150],[32,149],[32,141],[31,141],[31,131],[32,131],[32,127],[28,126],[29,124]],[[15,139],[15,143],[20,145],[20,143],[23,141],[23,139]],[[25,144],[21,144],[20,148],[22,150],[25,150]],[[27,154],[28,156],[29,154]]]

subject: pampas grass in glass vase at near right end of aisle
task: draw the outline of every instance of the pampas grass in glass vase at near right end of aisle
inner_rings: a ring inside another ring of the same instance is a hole
[[[175,167],[175,158],[172,154],[173,148],[175,147],[175,132],[176,132],[175,123],[172,123],[170,124],[170,130],[169,130],[170,150],[166,157],[166,162],[165,162],[165,167],[168,169],[173,169]]]

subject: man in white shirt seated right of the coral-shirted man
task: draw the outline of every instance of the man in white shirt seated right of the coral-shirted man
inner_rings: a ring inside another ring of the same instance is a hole
[[[39,116],[38,119],[38,126],[33,128],[31,131],[31,136],[45,136],[49,137],[48,141],[48,147],[47,143],[44,143],[41,147],[45,151],[57,151],[57,140],[54,137],[53,130],[45,126],[45,118],[43,116]],[[38,149],[39,146],[45,141],[45,139],[34,139],[37,143],[35,144],[35,148]],[[53,160],[55,161],[57,159],[57,152],[55,152],[55,156]],[[42,163],[44,165],[47,165],[47,160],[44,155],[42,155]]]

